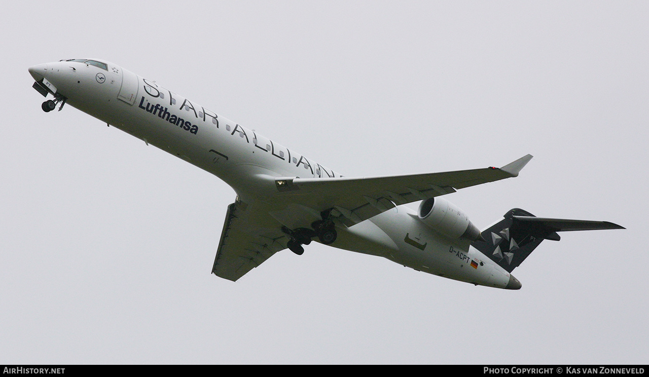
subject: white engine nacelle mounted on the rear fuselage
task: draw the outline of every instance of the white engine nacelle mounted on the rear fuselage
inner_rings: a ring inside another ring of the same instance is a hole
[[[430,198],[419,204],[419,220],[437,232],[450,238],[465,238],[469,241],[481,239],[480,230],[476,228],[455,204],[445,199]]]

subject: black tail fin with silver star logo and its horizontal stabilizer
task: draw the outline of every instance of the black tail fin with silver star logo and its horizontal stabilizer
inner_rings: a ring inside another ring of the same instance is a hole
[[[509,210],[504,219],[482,231],[483,240],[471,243],[508,273],[519,267],[544,239],[559,241],[557,232],[570,230],[624,229],[608,221],[547,219],[520,208]]]

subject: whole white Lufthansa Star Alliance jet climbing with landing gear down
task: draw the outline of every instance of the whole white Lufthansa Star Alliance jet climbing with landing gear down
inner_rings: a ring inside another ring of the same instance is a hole
[[[347,177],[106,60],[60,60],[29,73],[36,91],[53,96],[43,111],[69,104],[234,189],[212,265],[233,282],[276,252],[301,255],[316,241],[476,286],[520,289],[511,272],[541,241],[558,241],[557,232],[624,229],[513,208],[479,230],[443,198],[518,176],[530,154],[502,167]],[[417,201],[417,211],[404,206]]]

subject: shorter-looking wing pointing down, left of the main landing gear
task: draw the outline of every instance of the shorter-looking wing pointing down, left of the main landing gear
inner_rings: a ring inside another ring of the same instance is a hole
[[[228,206],[212,273],[234,282],[286,249],[287,242],[288,237],[267,211],[234,202]]]

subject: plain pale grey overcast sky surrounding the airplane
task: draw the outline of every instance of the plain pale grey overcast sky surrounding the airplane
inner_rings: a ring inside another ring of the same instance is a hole
[[[3,7],[0,363],[647,363],[646,1]],[[347,176],[502,166],[447,199],[606,220],[476,287],[310,245],[210,274],[234,191],[27,67],[109,60]]]

